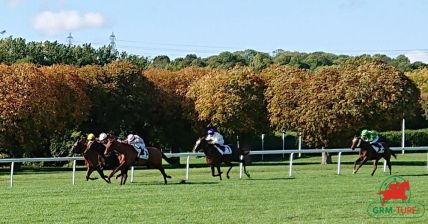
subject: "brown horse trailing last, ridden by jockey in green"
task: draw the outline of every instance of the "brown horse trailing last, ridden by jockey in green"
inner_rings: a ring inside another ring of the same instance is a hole
[[[356,174],[357,171],[360,169],[360,167],[367,162],[367,160],[373,160],[373,172],[372,176],[375,173],[377,169],[377,164],[381,158],[384,158],[386,161],[386,164],[389,168],[389,175],[391,175],[391,155],[394,156],[394,158],[397,159],[397,156],[395,153],[389,148],[389,146],[385,142],[381,142],[381,144],[384,147],[383,153],[377,153],[375,149],[370,145],[369,142],[364,141],[360,137],[354,137],[352,139],[352,146],[351,149],[354,150],[355,148],[360,148],[359,157],[357,160],[355,160],[354,163],[354,171],[353,173]],[[355,167],[357,166],[357,162],[360,162],[360,165],[357,169]]]

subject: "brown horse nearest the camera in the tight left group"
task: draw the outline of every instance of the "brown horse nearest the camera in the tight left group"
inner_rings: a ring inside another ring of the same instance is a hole
[[[165,184],[168,183],[167,178],[171,178],[171,176],[168,176],[165,173],[165,169],[162,166],[162,158],[165,159],[165,161],[167,161],[169,164],[173,164],[173,161],[166,157],[165,154],[163,154],[163,152],[161,152],[161,150],[158,148],[147,147],[147,150],[149,151],[149,159],[142,160],[137,158],[138,153],[132,145],[119,142],[114,137],[109,137],[104,154],[107,156],[113,150],[122,155],[123,160],[120,161],[120,165],[107,177],[109,180],[117,171],[120,170],[120,174],[122,176],[120,184],[125,184],[126,179],[128,178],[128,170],[133,165],[147,166],[148,168],[158,169],[162,173]]]

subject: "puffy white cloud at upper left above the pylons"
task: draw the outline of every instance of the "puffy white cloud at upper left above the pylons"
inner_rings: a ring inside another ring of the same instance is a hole
[[[104,24],[105,18],[100,13],[80,14],[78,11],[43,11],[33,20],[33,27],[48,35],[84,28],[98,28]]]

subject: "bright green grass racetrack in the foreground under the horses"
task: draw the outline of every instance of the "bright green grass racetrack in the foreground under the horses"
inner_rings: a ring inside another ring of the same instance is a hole
[[[73,186],[69,168],[24,169],[15,173],[10,188],[9,169],[4,167],[0,223],[428,223],[427,154],[397,155],[392,174],[409,180],[412,202],[425,206],[420,218],[370,217],[368,205],[379,201],[376,192],[388,175],[381,163],[371,177],[371,162],[353,175],[356,155],[345,155],[340,176],[337,164],[320,165],[320,157],[307,157],[294,160],[292,177],[287,159],[253,163],[250,179],[239,179],[235,167],[231,179],[224,175],[222,181],[202,167],[191,168],[189,181],[180,183],[185,169],[167,167],[173,177],[168,185],[157,170],[136,169],[134,182],[128,177],[120,186],[116,180],[87,182],[79,169]]]

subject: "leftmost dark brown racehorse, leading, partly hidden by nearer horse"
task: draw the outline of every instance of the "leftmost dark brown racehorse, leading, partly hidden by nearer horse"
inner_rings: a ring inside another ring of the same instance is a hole
[[[116,155],[104,156],[104,150],[105,146],[103,144],[97,141],[88,144],[85,139],[78,139],[71,147],[71,153],[82,154],[85,158],[87,167],[86,180],[95,180],[96,178],[91,178],[90,176],[92,172],[96,170],[103,180],[110,183],[103,169],[115,169],[119,166],[119,159]],[[85,151],[86,153],[84,153]]]

